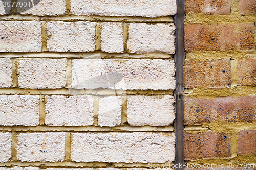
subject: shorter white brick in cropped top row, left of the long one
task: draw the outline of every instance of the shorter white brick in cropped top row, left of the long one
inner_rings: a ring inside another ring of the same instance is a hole
[[[30,0],[29,0],[30,1]],[[38,4],[33,8],[19,5],[17,6],[17,11],[22,15],[37,15],[37,16],[56,16],[56,15],[64,15],[66,13],[66,0],[40,0]],[[19,0],[19,2],[26,2],[24,0]],[[37,1],[38,2],[38,1]]]

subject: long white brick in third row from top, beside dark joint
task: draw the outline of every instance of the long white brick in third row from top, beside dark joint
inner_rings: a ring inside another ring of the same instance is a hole
[[[115,88],[122,90],[173,90],[174,75],[173,60],[72,60],[72,88],[75,89],[114,89],[115,83]]]

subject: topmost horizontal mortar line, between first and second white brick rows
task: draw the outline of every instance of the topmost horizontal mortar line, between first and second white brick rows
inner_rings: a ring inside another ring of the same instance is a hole
[[[172,16],[164,16],[157,18],[144,17],[115,17],[115,16],[25,16],[25,15],[11,15],[0,16],[3,21],[92,21],[92,22],[153,22],[164,23],[174,22]]]

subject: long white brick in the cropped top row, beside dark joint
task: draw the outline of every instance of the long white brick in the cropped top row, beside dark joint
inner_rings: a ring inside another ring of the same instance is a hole
[[[175,0],[71,0],[74,15],[160,17],[176,14]]]

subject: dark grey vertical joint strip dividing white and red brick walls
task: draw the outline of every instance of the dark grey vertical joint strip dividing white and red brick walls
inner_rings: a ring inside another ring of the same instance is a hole
[[[176,135],[176,160],[178,167],[175,169],[183,169],[180,167],[184,163],[183,154],[183,63],[185,59],[184,51],[184,19],[185,19],[185,2],[177,0],[177,14],[174,17],[176,26],[176,54],[174,56],[176,64],[176,90],[175,90],[175,135]]]

